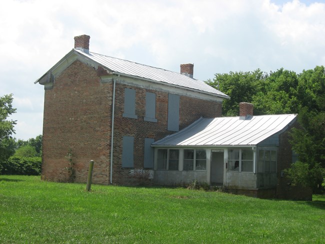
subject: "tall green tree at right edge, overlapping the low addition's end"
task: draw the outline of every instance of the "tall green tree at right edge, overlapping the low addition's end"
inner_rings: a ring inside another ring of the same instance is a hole
[[[325,182],[325,69],[316,66],[299,75],[298,121],[301,128],[292,131],[292,148],[299,162],[287,170],[295,184],[319,190]]]

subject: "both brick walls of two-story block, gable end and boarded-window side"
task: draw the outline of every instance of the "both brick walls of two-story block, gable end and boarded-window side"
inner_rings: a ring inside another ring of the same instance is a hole
[[[123,117],[124,88],[136,91],[137,119]],[[157,122],[144,121],[145,92],[156,94]],[[68,181],[68,159],[72,150],[75,182],[86,182],[88,162],[94,160],[94,183],[110,182],[110,131],[112,82],[101,83],[95,69],[73,62],[45,90],[42,179]],[[201,116],[221,116],[221,103],[180,96],[179,129]],[[144,138],[158,140],[167,130],[168,92],[116,82],[112,183],[151,184],[152,170],[143,168]],[[122,168],[122,138],[134,136],[134,167]]]

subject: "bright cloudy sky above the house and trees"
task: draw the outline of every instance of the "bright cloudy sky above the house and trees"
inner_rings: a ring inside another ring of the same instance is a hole
[[[325,0],[6,0],[0,8],[0,96],[13,93],[16,134],[42,133],[34,81],[90,35],[90,51],[194,77],[229,71],[300,73],[325,65]]]

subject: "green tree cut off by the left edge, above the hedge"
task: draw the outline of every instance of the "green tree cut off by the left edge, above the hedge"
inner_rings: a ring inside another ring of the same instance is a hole
[[[15,120],[8,119],[8,117],[16,111],[12,107],[12,94],[0,96],[0,161],[6,159],[7,148],[10,144],[10,135],[14,133]]]

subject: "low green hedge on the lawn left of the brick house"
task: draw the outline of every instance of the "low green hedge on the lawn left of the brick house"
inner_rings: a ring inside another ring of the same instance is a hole
[[[1,174],[39,175],[41,157],[11,156],[1,164]]]

